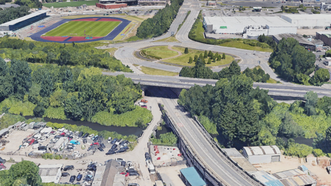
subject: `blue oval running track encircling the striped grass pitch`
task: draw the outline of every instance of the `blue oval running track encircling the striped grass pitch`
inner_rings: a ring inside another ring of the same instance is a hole
[[[115,18],[115,17],[88,17],[89,19],[93,19],[93,18],[104,18],[104,19],[117,19],[120,20],[122,23],[120,23],[113,31],[111,31],[108,35],[106,35],[105,37],[101,37],[98,39],[89,39],[89,40],[85,40],[85,41],[75,41],[75,43],[85,43],[85,42],[91,42],[91,41],[101,41],[101,40],[113,40],[131,21],[126,20],[126,19],[122,19],[122,18]],[[42,34],[45,34],[48,31],[53,30],[54,28],[60,26],[63,23],[66,23],[68,21],[71,20],[79,20],[79,19],[86,19],[86,18],[77,18],[77,19],[64,19],[61,20],[33,35],[30,36],[31,39],[35,40],[35,41],[42,41],[42,42],[56,42],[56,43],[72,43],[72,41],[50,41],[50,40],[46,40],[41,38],[40,36]],[[67,40],[67,39],[66,39]],[[69,40],[69,39],[68,39]]]

